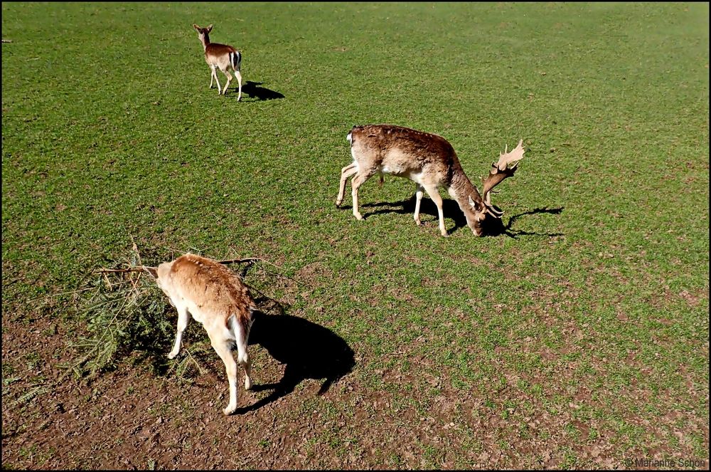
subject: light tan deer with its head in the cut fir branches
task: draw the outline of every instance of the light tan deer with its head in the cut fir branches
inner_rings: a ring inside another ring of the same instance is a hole
[[[191,315],[205,327],[215,352],[225,362],[230,382],[230,404],[223,409],[232,414],[237,409],[237,362],[232,347],[237,345],[237,361],[245,369],[245,389],[252,388],[247,339],[252,327],[252,313],[257,310],[247,287],[218,261],[186,254],[175,261],[146,270],[178,310],[176,342],[168,355],[178,355]]]

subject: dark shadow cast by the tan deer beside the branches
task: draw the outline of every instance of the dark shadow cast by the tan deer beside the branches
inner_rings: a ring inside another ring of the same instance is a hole
[[[253,385],[255,392],[273,392],[249,407],[237,409],[237,414],[260,409],[290,394],[305,379],[325,379],[319,389],[319,395],[324,394],[331,384],[353,370],[353,350],[331,330],[291,315],[257,312],[254,317],[249,344],[264,347],[287,367],[278,383]]]

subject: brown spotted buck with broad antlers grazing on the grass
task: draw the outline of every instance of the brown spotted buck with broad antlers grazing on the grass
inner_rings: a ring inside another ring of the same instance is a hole
[[[341,187],[336,206],[343,202],[346,180],[351,179],[353,216],[363,219],[358,211],[358,188],[374,174],[393,174],[415,182],[415,223],[419,221],[419,203],[427,192],[439,211],[439,231],[447,236],[442,214],[442,197],[439,187],[444,187],[456,200],[466,216],[466,224],[476,236],[482,236],[482,224],[487,215],[501,219],[503,211],[491,206],[491,190],[506,177],[513,176],[520,159],[523,159],[523,140],[511,152],[508,147],[491,164],[491,172],[483,179],[483,196],[471,184],[459,164],[454,148],[442,136],[411,130],[395,125],[355,126],[346,139],[351,142],[353,164],[341,169]],[[508,167],[513,164],[513,167]]]

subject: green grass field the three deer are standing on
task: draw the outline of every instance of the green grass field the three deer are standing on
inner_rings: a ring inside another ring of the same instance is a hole
[[[192,23],[242,51],[242,102],[236,80],[208,89]],[[186,403],[235,451],[129,448],[141,468],[708,468],[708,4],[11,2],[2,37],[4,468],[125,467],[45,436],[53,389],[85,388],[50,382],[84,330],[60,294],[132,238],[149,265],[274,263],[297,284],[264,291],[355,352],[323,397],[304,382],[229,418],[208,352]],[[493,196],[508,234],[455,228],[454,201],[449,238],[429,199],[416,226],[395,177],[361,187],[365,221],[348,192],[336,208],[346,134],[369,123],[446,137],[475,184],[523,138]],[[20,341],[38,326],[55,350]],[[255,382],[278,381],[251,349]],[[166,377],[141,365],[98,385],[136,369],[158,405]]]

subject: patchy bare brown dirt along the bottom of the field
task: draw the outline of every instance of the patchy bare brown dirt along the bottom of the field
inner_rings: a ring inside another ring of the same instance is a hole
[[[434,341],[427,331],[387,353],[385,361],[392,362],[369,370],[375,359],[364,357],[360,345],[348,345],[328,327],[296,315],[264,316],[255,320],[250,336],[255,388],[245,392],[240,384],[240,409],[224,416],[227,380],[211,351],[196,356],[201,367],[188,376],[189,382],[156,374],[138,353],[92,382],[76,382],[58,368],[76,355],[66,345],[75,332],[67,332],[58,320],[26,324],[4,313],[3,465],[628,468],[624,458],[694,458],[699,446],[707,449],[703,411],[678,409],[673,398],[659,400],[642,383],[608,392],[595,386],[594,376],[580,376],[579,360],[562,362],[576,350],[594,350],[582,337],[583,327],[565,317],[562,302],[547,313],[527,313],[522,321],[558,327],[565,335],[560,349],[531,352],[540,356],[540,372],[557,379],[542,392],[518,387],[540,379],[508,364],[507,351],[515,346],[496,347],[493,357],[471,347],[479,367],[490,374],[461,388],[454,387],[454,374],[442,367],[439,354],[427,350]],[[466,315],[459,313],[459,318]],[[184,350],[203,341],[197,332],[186,338]],[[527,349],[525,342],[520,349]],[[593,357],[590,367],[605,372],[611,362]],[[635,365],[634,353],[627,362]],[[493,386],[495,379],[505,382]],[[31,392],[36,395],[28,397]],[[707,390],[693,394],[695,404],[707,411]],[[626,404],[614,407],[613,399]],[[642,407],[651,399],[668,407],[664,415],[645,414]],[[629,405],[638,412],[631,413]],[[626,451],[619,447],[628,441],[624,431],[609,421],[621,411],[624,423],[643,431],[645,441]],[[668,446],[671,437],[675,449]],[[695,443],[698,438],[703,444]]]

